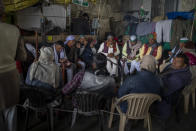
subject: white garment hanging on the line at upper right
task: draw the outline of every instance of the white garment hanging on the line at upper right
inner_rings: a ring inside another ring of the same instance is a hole
[[[156,23],[157,42],[170,42],[171,41],[171,26],[172,20],[163,20]]]

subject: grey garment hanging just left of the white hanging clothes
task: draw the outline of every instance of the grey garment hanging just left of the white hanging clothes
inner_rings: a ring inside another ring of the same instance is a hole
[[[144,36],[147,34],[151,34],[155,31],[155,22],[142,22],[138,24],[136,34],[138,36]]]

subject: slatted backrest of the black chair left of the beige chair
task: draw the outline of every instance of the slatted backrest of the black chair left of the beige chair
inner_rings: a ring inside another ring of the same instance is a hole
[[[75,107],[81,114],[97,113],[100,110],[101,100],[103,100],[100,94],[81,90],[78,90],[73,98],[76,102]]]

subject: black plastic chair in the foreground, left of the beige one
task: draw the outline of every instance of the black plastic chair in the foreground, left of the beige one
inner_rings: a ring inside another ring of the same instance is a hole
[[[73,97],[74,111],[72,114],[71,127],[73,127],[76,122],[77,114],[84,116],[98,116],[100,128],[101,131],[103,131],[103,115],[100,111],[101,100],[103,100],[103,97],[99,94],[81,90],[77,91]]]

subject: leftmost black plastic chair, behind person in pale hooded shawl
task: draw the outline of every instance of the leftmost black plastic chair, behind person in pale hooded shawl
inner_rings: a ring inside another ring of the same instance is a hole
[[[55,100],[55,93],[49,89],[28,87],[21,89],[21,100],[25,100],[26,109],[25,131],[29,130],[30,111],[46,112],[49,131],[54,131],[53,107],[50,103]],[[36,125],[34,125],[36,126]]]

